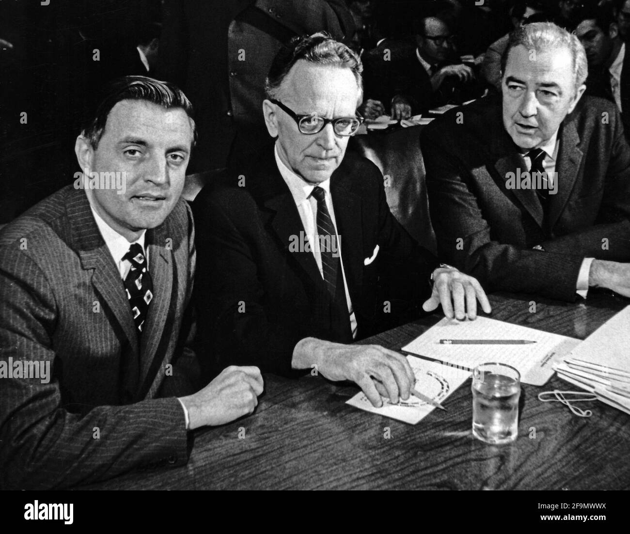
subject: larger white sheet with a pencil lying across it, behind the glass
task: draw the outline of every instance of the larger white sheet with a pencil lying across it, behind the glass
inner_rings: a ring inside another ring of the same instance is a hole
[[[527,339],[524,345],[440,344],[440,339]],[[554,373],[553,362],[580,343],[579,339],[478,317],[475,321],[447,319],[403,347],[403,351],[430,360],[445,361],[472,370],[480,363],[506,363],[517,368],[520,381],[543,385]]]

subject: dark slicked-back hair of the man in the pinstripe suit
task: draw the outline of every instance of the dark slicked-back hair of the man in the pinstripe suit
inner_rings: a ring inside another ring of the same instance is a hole
[[[83,127],[81,134],[89,139],[94,149],[105,132],[107,117],[112,108],[122,100],[144,100],[162,106],[164,109],[181,108],[186,111],[193,128],[193,145],[197,140],[193,106],[180,88],[169,82],[162,82],[147,76],[123,76],[111,81],[103,91],[96,111]]]

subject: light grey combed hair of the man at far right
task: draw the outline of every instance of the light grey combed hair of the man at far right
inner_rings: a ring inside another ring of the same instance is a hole
[[[523,45],[527,50],[536,50],[542,54],[551,50],[565,48],[573,59],[573,79],[575,89],[581,86],[588,76],[587,55],[580,40],[568,31],[551,22],[526,24],[510,33],[510,42],[501,57],[501,71],[505,72],[508,55],[512,48]]]

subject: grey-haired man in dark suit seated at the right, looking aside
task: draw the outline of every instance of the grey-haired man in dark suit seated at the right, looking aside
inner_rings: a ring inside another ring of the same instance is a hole
[[[630,295],[630,148],[619,113],[583,97],[580,42],[553,23],[515,30],[502,98],[421,134],[438,253],[489,290],[575,300]],[[581,99],[580,99],[581,98]]]

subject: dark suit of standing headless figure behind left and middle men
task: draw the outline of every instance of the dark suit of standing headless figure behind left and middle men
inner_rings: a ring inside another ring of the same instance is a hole
[[[195,107],[192,172],[224,168],[235,142],[232,166],[243,169],[265,144],[265,77],[282,43],[354,32],[343,0],[167,0],[163,28],[157,77],[178,84]]]

